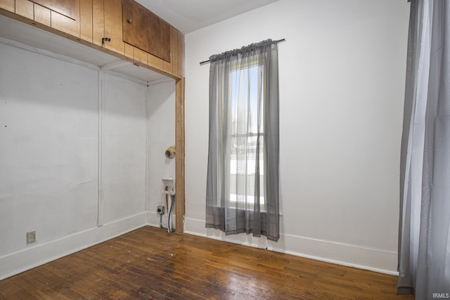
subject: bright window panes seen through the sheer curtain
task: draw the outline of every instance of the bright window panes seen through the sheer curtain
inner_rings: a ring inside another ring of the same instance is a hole
[[[259,105],[262,93],[257,89],[262,73],[257,65],[244,68],[230,74],[230,206],[236,207],[236,202],[254,205],[255,184],[259,184],[259,204],[264,209],[264,128],[259,128],[264,105]]]

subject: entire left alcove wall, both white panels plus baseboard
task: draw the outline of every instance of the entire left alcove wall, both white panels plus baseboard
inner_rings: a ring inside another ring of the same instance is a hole
[[[146,225],[148,96],[95,67],[0,53],[1,280]]]

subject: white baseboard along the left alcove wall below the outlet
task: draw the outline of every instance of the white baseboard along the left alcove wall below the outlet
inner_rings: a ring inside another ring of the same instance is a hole
[[[0,256],[0,280],[147,225],[147,212]]]

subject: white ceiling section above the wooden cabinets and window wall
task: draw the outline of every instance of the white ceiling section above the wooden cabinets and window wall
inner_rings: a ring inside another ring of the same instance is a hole
[[[136,0],[187,34],[278,0]]]

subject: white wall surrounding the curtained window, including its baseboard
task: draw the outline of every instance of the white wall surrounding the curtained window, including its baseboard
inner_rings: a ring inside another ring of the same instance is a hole
[[[186,34],[186,232],[396,273],[408,19],[404,0],[280,0]],[[269,38],[286,39],[277,243],[205,228],[209,65],[199,62]]]

